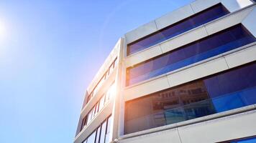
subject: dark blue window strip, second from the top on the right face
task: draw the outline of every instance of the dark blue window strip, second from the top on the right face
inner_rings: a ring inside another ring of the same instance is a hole
[[[238,24],[224,31],[193,41],[191,44],[162,54],[127,68],[126,85],[136,84],[152,77],[180,69],[226,51],[256,41],[247,29]]]

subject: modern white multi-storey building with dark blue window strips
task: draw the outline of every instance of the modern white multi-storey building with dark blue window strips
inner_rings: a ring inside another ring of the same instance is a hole
[[[256,142],[256,4],[196,0],[121,37],[75,143]]]

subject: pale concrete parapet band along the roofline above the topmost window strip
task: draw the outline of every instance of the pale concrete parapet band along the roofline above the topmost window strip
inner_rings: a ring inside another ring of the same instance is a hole
[[[186,19],[187,17],[196,14],[204,9],[207,9],[215,4],[223,4],[230,12],[237,11],[238,9],[242,9],[245,6],[253,4],[250,0],[243,1],[245,5],[239,4],[239,1],[234,0],[197,0],[193,1],[191,4],[187,4],[186,6],[181,7],[180,9],[176,9],[171,11],[164,16],[161,16],[158,19],[148,22],[142,26],[139,26],[137,29],[127,32],[124,35],[125,41],[127,44],[132,43],[138,39],[141,39],[144,36],[154,33],[160,29],[165,28],[171,24],[175,24],[182,19]],[[246,3],[245,3],[246,2]]]

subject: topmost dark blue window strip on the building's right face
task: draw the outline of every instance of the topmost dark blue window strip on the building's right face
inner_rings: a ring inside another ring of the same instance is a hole
[[[177,36],[178,34],[182,34],[185,31],[189,31],[197,26],[206,24],[209,21],[218,19],[219,17],[226,14],[229,14],[229,11],[221,4],[212,6],[209,9],[201,11],[198,14],[190,16],[187,19],[183,19],[182,21],[178,21],[177,23],[172,24],[165,29],[157,31],[150,36],[146,36],[143,39],[128,44],[127,55],[134,54],[137,51],[146,49],[150,46],[160,43],[161,41],[165,41],[166,39],[170,39],[174,36]]]

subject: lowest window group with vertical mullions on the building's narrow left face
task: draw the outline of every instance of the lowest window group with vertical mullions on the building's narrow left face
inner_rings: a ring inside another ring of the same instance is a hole
[[[89,135],[83,143],[109,143],[111,142],[112,117],[107,118],[100,127]]]

